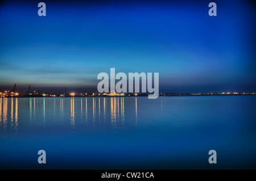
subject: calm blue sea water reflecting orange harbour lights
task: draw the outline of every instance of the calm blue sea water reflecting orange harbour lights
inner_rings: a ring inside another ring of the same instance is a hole
[[[0,98],[1,169],[256,169],[256,96]],[[209,164],[209,150],[217,163]],[[46,164],[38,151],[46,151]]]

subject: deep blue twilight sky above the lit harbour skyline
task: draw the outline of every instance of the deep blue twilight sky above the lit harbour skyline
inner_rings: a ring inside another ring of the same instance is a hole
[[[158,72],[160,92],[256,92],[249,1],[39,2],[0,5],[0,91],[95,91],[115,68]]]

